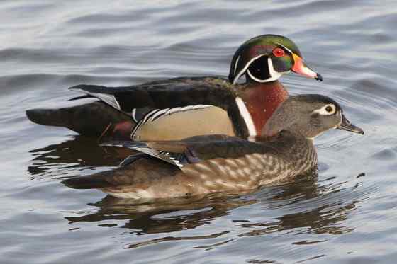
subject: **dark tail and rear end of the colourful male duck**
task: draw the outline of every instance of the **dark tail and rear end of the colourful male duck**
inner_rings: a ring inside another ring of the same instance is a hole
[[[130,130],[133,127],[133,122],[128,115],[98,101],[69,108],[31,109],[26,111],[26,115],[29,120],[37,124],[67,127],[90,137],[101,137],[105,131],[113,132],[114,129],[117,134],[110,134],[111,138],[117,136],[129,139]],[[117,126],[118,124],[125,125]]]

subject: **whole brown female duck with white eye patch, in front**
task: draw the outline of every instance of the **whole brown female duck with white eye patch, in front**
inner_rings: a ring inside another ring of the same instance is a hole
[[[213,192],[238,193],[284,183],[317,164],[313,138],[332,128],[364,134],[327,96],[290,96],[261,133],[266,142],[226,135],[179,142],[109,142],[140,154],[113,171],[64,180],[72,188],[99,188],[121,198],[167,198]]]

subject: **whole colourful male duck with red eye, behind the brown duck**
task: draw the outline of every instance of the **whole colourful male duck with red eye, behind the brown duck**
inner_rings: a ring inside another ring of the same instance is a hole
[[[202,134],[255,137],[288,93],[278,81],[293,71],[319,81],[298,47],[281,35],[259,35],[235,52],[228,79],[181,77],[137,86],[78,85],[72,91],[99,102],[71,108],[33,109],[42,125],[68,127],[107,139],[179,140]],[[245,75],[245,84],[237,84]],[[75,98],[74,98],[75,99]]]

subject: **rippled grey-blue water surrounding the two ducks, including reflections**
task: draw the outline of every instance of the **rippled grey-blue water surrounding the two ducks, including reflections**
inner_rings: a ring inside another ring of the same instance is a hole
[[[386,0],[1,1],[0,263],[396,263],[396,25]],[[366,132],[318,138],[318,178],[155,205],[60,183],[122,156],[26,109],[69,105],[75,84],[227,75],[264,33],[324,76],[284,76],[291,93],[335,98]]]

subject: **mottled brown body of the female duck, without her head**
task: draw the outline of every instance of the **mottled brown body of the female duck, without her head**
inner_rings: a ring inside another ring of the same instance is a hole
[[[184,152],[175,154],[181,160],[179,166],[141,156],[116,170],[89,178],[74,178],[68,184],[99,188],[114,197],[133,199],[240,193],[262,185],[286,182],[317,164],[313,141],[289,132],[266,143],[236,138],[208,142],[203,137],[202,140],[180,145]],[[134,144],[123,146],[134,149]],[[158,145],[162,149],[169,147]],[[171,144],[171,147],[176,146],[175,142]],[[135,147],[142,149],[147,145]]]

